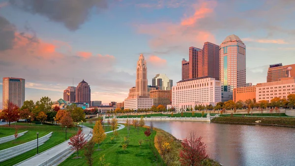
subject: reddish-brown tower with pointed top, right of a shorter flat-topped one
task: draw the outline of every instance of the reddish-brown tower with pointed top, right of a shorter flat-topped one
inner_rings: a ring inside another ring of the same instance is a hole
[[[91,91],[90,86],[84,80],[76,88],[76,102],[90,104]]]

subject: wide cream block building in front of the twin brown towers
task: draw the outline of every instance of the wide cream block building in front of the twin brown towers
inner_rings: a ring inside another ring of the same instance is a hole
[[[193,78],[177,82],[172,87],[172,105],[177,111],[195,105],[215,105],[221,101],[221,83],[211,77]]]

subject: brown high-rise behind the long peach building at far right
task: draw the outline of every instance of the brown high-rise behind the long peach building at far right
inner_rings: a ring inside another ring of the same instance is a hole
[[[295,64],[286,66],[283,66],[282,64],[269,65],[266,77],[267,82],[279,81],[281,78],[288,77],[287,68],[289,66],[295,68]],[[295,69],[291,70],[291,75],[295,75]]]

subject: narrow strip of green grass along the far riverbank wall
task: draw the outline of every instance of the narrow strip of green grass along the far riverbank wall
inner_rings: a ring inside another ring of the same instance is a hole
[[[210,114],[210,115],[215,115],[215,114]],[[144,114],[144,115],[128,115],[128,118],[140,118],[141,116],[143,117],[155,117],[155,116],[164,116],[164,117],[181,117],[181,113],[173,113],[173,116],[171,116],[170,114],[162,114],[162,113],[156,113],[156,114]],[[204,113],[204,118],[206,118],[207,113]],[[192,112],[183,112],[183,116],[182,117],[202,117],[202,113],[197,113],[195,112],[194,116],[192,115]],[[106,116],[106,118],[108,118]],[[123,115],[123,116],[118,116],[117,118],[127,118],[127,115]]]

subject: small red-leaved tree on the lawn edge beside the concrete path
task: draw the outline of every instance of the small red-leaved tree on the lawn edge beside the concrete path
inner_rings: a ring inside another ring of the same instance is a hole
[[[76,135],[72,136],[70,142],[68,142],[68,144],[72,146],[71,149],[77,151],[77,158],[79,150],[82,149],[86,143],[87,140],[84,138],[84,133],[82,133],[81,130],[79,130]]]

